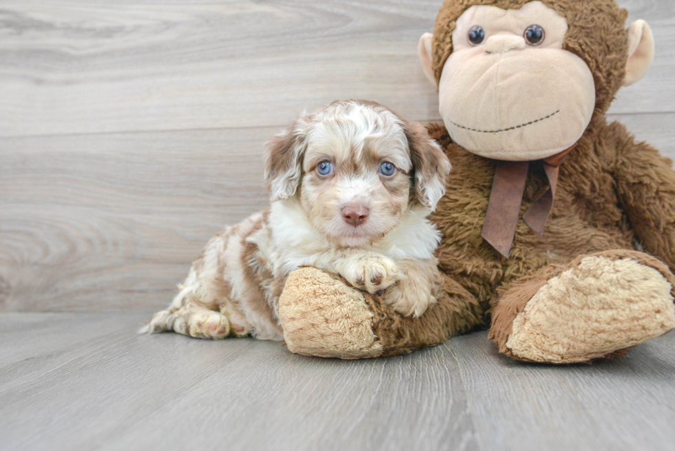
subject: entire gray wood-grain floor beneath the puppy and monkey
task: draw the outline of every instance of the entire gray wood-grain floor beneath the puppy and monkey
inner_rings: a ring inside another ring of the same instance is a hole
[[[0,449],[659,451],[675,439],[672,334],[592,366],[520,364],[486,333],[339,361],[134,335],[143,319],[1,314]]]

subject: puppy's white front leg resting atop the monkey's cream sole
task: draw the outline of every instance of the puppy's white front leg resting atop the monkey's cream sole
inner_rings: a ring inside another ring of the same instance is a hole
[[[358,289],[376,293],[395,284],[399,266],[384,255],[361,249],[335,249],[317,255],[314,266],[342,275]]]

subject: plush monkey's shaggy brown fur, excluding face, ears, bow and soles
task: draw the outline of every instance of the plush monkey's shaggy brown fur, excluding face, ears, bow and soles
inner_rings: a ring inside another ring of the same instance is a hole
[[[446,0],[434,32],[436,80],[453,50],[455,22],[467,8],[521,8],[528,1]],[[506,346],[514,319],[552,277],[589,255],[630,258],[656,269],[675,286],[671,272],[675,268],[672,161],[650,145],[636,143],[623,125],[607,124],[604,117],[625,76],[627,34],[623,27],[627,13],[613,0],[542,1],[568,19],[564,47],[588,64],[596,85],[593,119],[560,167],[546,230],[537,235],[519,220],[510,257],[499,255],[481,238],[495,161],[471,154],[453,143],[442,125],[431,125],[430,135],[453,163],[446,195],[432,215],[444,235],[437,257],[445,277],[445,293],[419,319],[401,317],[382,305],[377,296],[365,295],[373,313],[372,331],[382,345],[380,355],[438,344],[490,324],[491,317],[490,338],[501,352],[527,360]],[[530,165],[521,217],[546,189],[546,175],[535,162]],[[621,355],[625,349],[615,348],[605,355],[589,354],[588,360]]]

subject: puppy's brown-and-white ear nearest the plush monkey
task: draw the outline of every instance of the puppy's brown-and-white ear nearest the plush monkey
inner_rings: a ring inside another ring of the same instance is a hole
[[[414,122],[404,124],[415,172],[415,197],[434,211],[446,192],[450,160],[435,140],[429,137],[424,125]]]

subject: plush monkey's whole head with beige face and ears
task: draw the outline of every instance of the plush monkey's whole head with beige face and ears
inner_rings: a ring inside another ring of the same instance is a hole
[[[497,160],[572,147],[654,56],[644,21],[614,0],[446,0],[419,40],[450,136]]]

